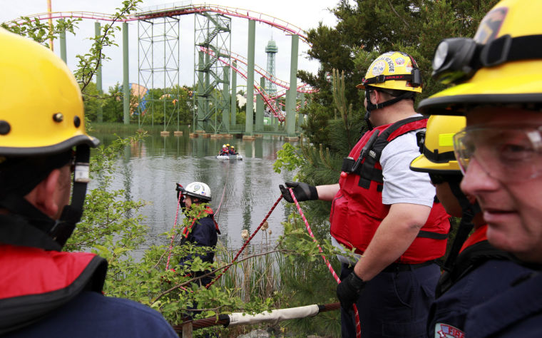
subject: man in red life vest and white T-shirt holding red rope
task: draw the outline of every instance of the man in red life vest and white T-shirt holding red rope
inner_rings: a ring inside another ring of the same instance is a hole
[[[362,337],[419,337],[439,280],[435,260],[444,255],[449,232],[429,178],[409,170],[419,155],[416,133],[426,126],[414,111],[420,71],[409,54],[390,51],[372,62],[358,88],[366,91],[366,118],[374,128],[344,159],[339,183],[286,185],[298,200],[331,200],[332,240],[361,255],[353,262],[339,257],[342,336],[356,334],[355,303]],[[280,189],[291,202],[290,192]]]

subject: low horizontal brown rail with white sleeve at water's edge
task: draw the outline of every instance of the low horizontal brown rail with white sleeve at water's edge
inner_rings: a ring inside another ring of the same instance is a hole
[[[262,322],[278,323],[287,319],[314,317],[319,313],[327,311],[335,311],[340,308],[340,303],[332,304],[312,304],[305,307],[291,307],[288,309],[273,309],[270,312],[262,312],[259,314],[243,314],[242,312],[234,312],[232,314],[220,314],[204,319],[189,320],[179,325],[173,325],[176,332],[183,331],[183,326],[192,324],[193,329],[202,329],[203,327],[213,327],[215,325],[224,325],[230,327],[242,324],[257,324]]]

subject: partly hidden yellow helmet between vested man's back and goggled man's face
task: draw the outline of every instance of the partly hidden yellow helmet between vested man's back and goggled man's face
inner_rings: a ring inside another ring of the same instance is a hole
[[[410,163],[410,169],[422,173],[459,174],[454,155],[454,135],[465,128],[464,116],[429,117],[421,155]]]

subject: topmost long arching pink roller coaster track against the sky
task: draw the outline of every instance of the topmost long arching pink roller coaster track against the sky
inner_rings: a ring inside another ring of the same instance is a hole
[[[235,16],[237,18],[249,19],[260,22],[262,24],[267,24],[269,26],[275,27],[284,31],[286,34],[295,34],[300,36],[300,39],[307,44],[310,44],[307,41],[307,32],[300,27],[297,27],[293,24],[290,24],[284,20],[277,19],[274,16],[263,14],[257,11],[250,11],[247,9],[236,9],[233,7],[227,6],[218,6],[211,4],[183,4],[183,3],[173,3],[165,4],[161,6],[153,6],[145,8],[142,11],[138,11],[136,14],[127,16],[126,19],[121,19],[117,21],[126,22],[126,21],[136,21],[136,20],[145,20],[145,19],[154,19],[160,18],[163,16],[180,16],[188,15],[195,13],[203,12],[214,12],[218,14],[223,14],[226,16]],[[99,21],[113,21],[115,17],[111,14],[95,13],[91,11],[55,11],[51,13],[40,13],[40,14],[31,14],[29,16],[21,17],[19,19],[14,19],[8,22],[8,24],[23,24],[28,18],[30,21],[40,21],[48,19],[91,19]]]

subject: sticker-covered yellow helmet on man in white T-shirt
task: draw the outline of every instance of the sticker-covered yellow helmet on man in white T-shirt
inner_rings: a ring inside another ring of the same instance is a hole
[[[412,56],[389,51],[374,59],[356,88],[365,86],[421,93],[421,73]]]

